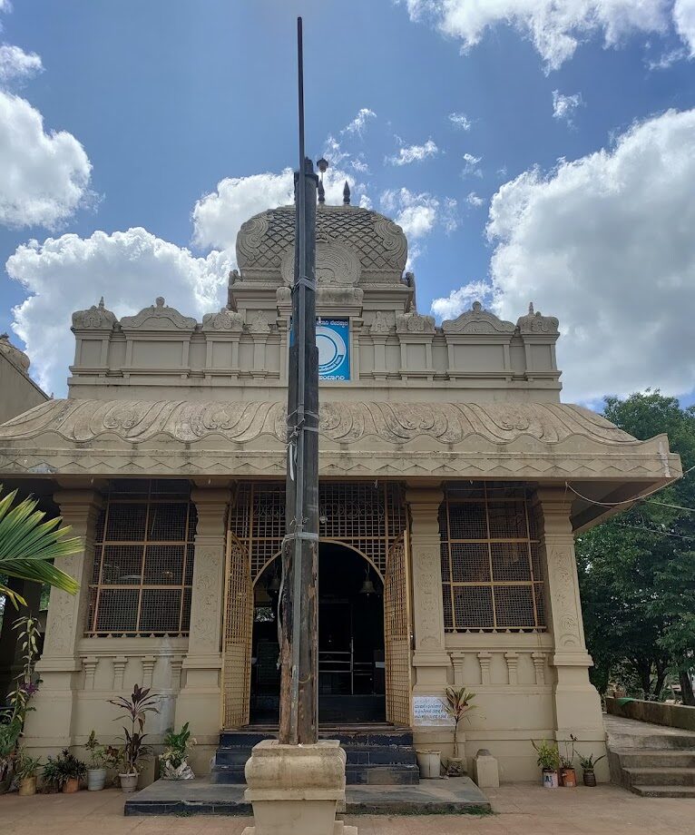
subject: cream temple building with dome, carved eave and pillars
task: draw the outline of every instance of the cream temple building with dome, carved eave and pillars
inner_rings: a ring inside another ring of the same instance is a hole
[[[557,319],[476,303],[438,327],[393,221],[321,205],[317,235],[322,358],[344,377],[320,387],[321,717],[447,751],[437,699],[466,685],[465,753],[503,781],[535,779],[532,739],[601,754],[574,535],[679,458],[560,402]],[[84,539],[62,563],[80,594],[51,595],[30,748],[114,738],[107,699],[135,682],[162,694],[154,742],[191,722],[202,772],[221,729],[273,721],[293,237],[292,207],[247,221],[202,322],[162,298],[76,312],[68,398],[0,427],[2,481]]]

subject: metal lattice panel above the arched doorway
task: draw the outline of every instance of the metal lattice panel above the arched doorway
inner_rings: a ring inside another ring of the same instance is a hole
[[[366,555],[383,577],[391,545],[406,529],[406,506],[400,486],[374,482],[318,486],[321,539],[352,545]],[[250,554],[255,581],[279,554],[285,535],[285,485],[240,485],[230,513],[230,530]]]

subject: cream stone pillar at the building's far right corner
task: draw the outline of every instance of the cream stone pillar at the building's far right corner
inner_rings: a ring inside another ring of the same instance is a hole
[[[541,487],[534,501],[545,573],[547,625],[553,634],[553,702],[559,740],[574,733],[581,741],[603,742],[601,700],[589,682],[592,658],[586,651],[579,597],[571,496],[565,487]]]

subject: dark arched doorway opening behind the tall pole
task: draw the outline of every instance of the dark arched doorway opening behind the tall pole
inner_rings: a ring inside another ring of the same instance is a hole
[[[250,722],[279,716],[279,557],[253,593]],[[347,545],[318,546],[318,719],[350,724],[386,719],[384,585],[367,559]]]

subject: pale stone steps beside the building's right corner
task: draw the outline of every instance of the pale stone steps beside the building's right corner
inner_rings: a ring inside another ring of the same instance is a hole
[[[605,718],[612,782],[641,797],[695,799],[695,733]]]

